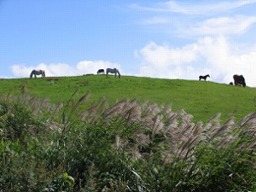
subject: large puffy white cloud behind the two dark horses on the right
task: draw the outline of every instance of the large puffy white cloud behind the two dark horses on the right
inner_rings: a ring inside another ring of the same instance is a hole
[[[242,74],[249,86],[256,86],[256,51],[233,51],[233,45],[220,36],[201,38],[179,48],[149,43],[137,53],[142,60],[139,76],[166,79],[198,79],[210,73],[211,81],[229,83]]]

